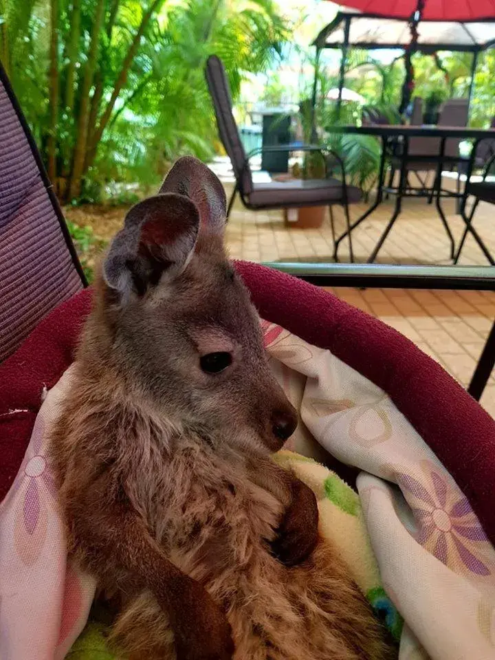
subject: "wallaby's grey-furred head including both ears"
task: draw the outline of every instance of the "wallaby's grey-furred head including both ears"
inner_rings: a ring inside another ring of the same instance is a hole
[[[115,366],[177,422],[187,419],[208,434],[274,446],[274,419],[294,419],[295,413],[267,365],[248,291],[225,255],[223,187],[205,165],[184,157],[162,191],[129,211],[104,263],[105,282],[123,294]],[[159,272],[153,284],[140,242],[146,223],[157,217],[166,242],[154,246],[164,264],[155,263]],[[136,290],[136,277],[148,278],[142,291]],[[201,353],[215,351],[232,353],[232,365],[225,373],[206,375]]]

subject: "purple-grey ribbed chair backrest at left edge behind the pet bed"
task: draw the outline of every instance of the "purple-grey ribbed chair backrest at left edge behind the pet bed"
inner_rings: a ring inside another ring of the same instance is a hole
[[[1,362],[49,311],[83,288],[85,276],[1,65],[0,123]]]

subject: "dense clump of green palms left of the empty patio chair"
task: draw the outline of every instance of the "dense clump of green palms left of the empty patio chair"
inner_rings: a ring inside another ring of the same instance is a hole
[[[210,157],[206,59],[223,59],[236,98],[289,36],[274,0],[0,0],[0,16],[0,58],[63,201]]]

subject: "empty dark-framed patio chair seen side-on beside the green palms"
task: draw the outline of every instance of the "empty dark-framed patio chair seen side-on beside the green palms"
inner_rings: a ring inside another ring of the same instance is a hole
[[[361,190],[348,186],[345,177],[344,164],[340,157],[323,146],[308,144],[287,144],[261,147],[246,155],[239,129],[232,114],[232,97],[225,69],[220,58],[212,55],[206,63],[206,82],[212,98],[214,113],[217,119],[220,139],[227,155],[232,162],[236,183],[228,203],[227,219],[230,216],[234,200],[239,193],[244,206],[250,210],[301,208],[305,206],[328,206],[330,211],[331,229],[335,243],[335,226],[332,206],[338,204],[344,208],[347,228],[350,227],[349,203],[361,199]],[[325,159],[327,176],[324,179],[294,179],[289,181],[270,181],[257,183],[253,181],[250,158],[260,153],[270,151],[285,152],[317,152]],[[331,170],[338,168],[341,179],[331,177]],[[349,251],[351,262],[354,261],[351,234],[349,232]]]

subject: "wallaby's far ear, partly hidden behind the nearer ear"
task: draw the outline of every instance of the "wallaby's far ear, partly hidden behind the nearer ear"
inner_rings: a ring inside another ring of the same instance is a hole
[[[199,210],[201,231],[223,233],[227,209],[225,190],[212,170],[197,158],[179,158],[159,192],[178,192],[189,197]]]

